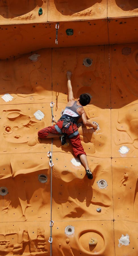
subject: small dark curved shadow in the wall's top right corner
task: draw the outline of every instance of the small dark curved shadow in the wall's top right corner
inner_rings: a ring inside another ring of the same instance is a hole
[[[119,8],[123,11],[132,11],[138,8],[138,1],[137,0],[116,0],[116,4]]]

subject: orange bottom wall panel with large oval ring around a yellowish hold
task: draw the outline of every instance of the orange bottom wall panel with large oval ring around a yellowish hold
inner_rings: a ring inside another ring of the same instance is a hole
[[[62,226],[57,222],[53,227],[55,234],[55,255],[101,255],[114,256],[114,243],[112,232],[113,221],[65,221]],[[74,233],[68,235],[65,233],[66,226],[74,227]],[[104,229],[104,232],[103,232]],[[97,245],[89,245],[91,237],[97,239]],[[109,246],[110,244],[110,246]]]

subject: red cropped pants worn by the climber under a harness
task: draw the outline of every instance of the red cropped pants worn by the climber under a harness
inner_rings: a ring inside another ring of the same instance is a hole
[[[62,129],[62,124],[63,124],[63,121],[58,121],[56,125],[58,125],[58,127],[60,129]],[[73,128],[72,128],[73,126]],[[73,131],[74,129],[74,131]],[[67,136],[71,135],[72,133],[78,131],[78,127],[76,124],[73,124],[70,125],[69,128],[63,128],[62,129],[62,133],[66,133]],[[47,135],[49,133],[54,133],[54,134],[60,134],[56,129],[55,129],[55,125],[53,126],[48,126],[46,128],[43,128],[42,130],[40,130],[38,132],[38,137],[39,138],[46,138]],[[70,142],[72,144],[72,149],[73,149],[73,152],[74,152],[74,155],[76,157],[78,157],[78,154],[84,154],[86,155],[86,153],[84,152],[84,149],[83,149],[83,146],[81,145],[81,140],[80,140],[80,134],[72,137],[72,138],[69,138],[70,139]]]

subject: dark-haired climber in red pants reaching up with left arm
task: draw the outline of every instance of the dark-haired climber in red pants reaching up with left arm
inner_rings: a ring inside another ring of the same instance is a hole
[[[66,136],[70,139],[72,144],[73,152],[76,157],[79,157],[82,164],[85,167],[86,175],[88,179],[92,179],[93,175],[89,169],[89,164],[87,160],[86,153],[81,145],[80,134],[78,132],[77,121],[82,117],[83,124],[88,127],[93,127],[97,129],[96,123],[90,123],[87,121],[86,112],[83,106],[89,104],[91,97],[89,94],[81,94],[77,101],[74,99],[71,85],[72,73],[67,71],[68,78],[68,104],[66,108],[56,123],[56,125],[43,128],[38,132],[39,138],[55,138],[59,137],[61,139],[62,145],[66,143]]]

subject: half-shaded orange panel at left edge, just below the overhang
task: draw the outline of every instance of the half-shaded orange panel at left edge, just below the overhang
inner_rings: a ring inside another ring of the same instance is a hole
[[[0,97],[1,105],[51,102],[51,49],[3,60],[0,67],[0,94],[13,97],[7,103]]]

